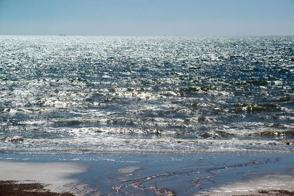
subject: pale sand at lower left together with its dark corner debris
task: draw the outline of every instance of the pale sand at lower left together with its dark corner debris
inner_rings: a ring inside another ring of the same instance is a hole
[[[0,195],[8,196],[7,191],[12,188],[19,195],[21,190],[24,190],[30,191],[32,196],[37,196],[37,193],[33,194],[34,190],[42,192],[43,196],[82,196],[92,190],[71,178],[73,174],[81,172],[86,172],[86,167],[73,163],[0,161]]]

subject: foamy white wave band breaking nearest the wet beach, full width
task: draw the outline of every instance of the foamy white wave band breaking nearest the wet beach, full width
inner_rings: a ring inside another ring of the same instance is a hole
[[[240,139],[123,139],[113,137],[78,137],[68,139],[31,139],[6,137],[0,140],[0,152],[27,153],[197,153],[197,152],[294,152],[294,140],[240,140]]]

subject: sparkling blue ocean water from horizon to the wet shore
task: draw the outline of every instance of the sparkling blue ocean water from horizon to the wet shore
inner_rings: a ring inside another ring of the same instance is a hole
[[[293,152],[294,36],[0,36],[0,151]]]

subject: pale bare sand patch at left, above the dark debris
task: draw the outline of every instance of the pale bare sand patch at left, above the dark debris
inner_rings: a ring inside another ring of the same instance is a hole
[[[86,167],[73,163],[0,161],[0,180],[38,182],[47,185],[44,189],[52,192],[70,192],[76,196],[90,191],[87,185],[78,185],[78,180],[71,178],[73,174],[81,172],[86,172]]]

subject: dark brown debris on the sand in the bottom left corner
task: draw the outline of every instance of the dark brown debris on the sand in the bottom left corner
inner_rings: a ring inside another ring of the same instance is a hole
[[[0,196],[74,196],[71,193],[53,193],[44,189],[41,183],[19,183],[0,180]]]

